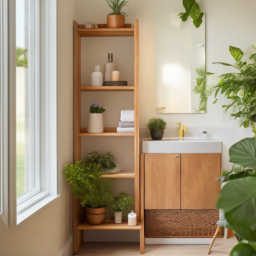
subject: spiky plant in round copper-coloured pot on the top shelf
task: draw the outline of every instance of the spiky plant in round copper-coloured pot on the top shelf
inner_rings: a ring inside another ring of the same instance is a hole
[[[129,0],[106,0],[106,3],[112,10],[106,17],[106,26],[108,28],[124,28],[124,20],[127,14],[122,9],[129,3]]]

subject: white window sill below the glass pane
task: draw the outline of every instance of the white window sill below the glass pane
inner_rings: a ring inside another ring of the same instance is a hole
[[[41,208],[45,207],[47,204],[51,203],[52,201],[54,201],[55,199],[57,199],[60,195],[58,196],[47,196],[44,199],[41,199],[40,201],[38,201],[37,203],[31,205],[29,208],[27,208],[26,210],[20,212],[17,215],[17,225],[22,223],[23,221],[25,221],[27,218],[29,218],[30,216],[32,216],[33,214],[35,214],[35,212],[37,212],[38,210],[40,210]]]

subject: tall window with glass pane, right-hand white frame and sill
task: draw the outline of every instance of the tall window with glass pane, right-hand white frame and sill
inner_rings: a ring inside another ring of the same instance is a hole
[[[18,52],[17,223],[57,196],[56,1],[16,0]]]

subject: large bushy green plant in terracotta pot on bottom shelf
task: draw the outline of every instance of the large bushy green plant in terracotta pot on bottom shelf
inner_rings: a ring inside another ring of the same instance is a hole
[[[66,180],[73,187],[73,195],[86,207],[87,220],[97,225],[103,222],[105,208],[111,205],[114,192],[111,188],[113,179],[101,177],[100,164],[77,161],[66,164]]]

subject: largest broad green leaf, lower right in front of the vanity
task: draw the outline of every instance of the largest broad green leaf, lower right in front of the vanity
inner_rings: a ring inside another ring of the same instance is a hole
[[[246,240],[256,241],[256,177],[229,180],[217,198],[231,229]]]

